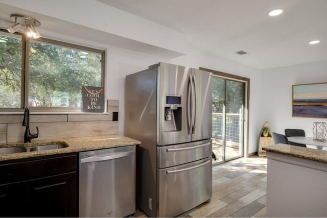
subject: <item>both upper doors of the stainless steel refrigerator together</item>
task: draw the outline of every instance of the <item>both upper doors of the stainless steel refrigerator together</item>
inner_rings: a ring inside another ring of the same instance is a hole
[[[158,81],[157,144],[211,138],[212,73],[160,62]]]

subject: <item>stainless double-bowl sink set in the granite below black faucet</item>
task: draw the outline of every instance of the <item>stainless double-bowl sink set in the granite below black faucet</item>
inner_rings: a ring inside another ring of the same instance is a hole
[[[46,144],[39,144],[33,147],[24,147],[25,144],[20,144],[20,147],[6,147],[0,148],[0,155],[6,154],[16,154],[22,152],[36,152],[36,151],[46,151],[46,150],[53,150],[53,149],[63,149],[67,148],[68,144],[65,142],[53,142],[53,143],[46,143]]]

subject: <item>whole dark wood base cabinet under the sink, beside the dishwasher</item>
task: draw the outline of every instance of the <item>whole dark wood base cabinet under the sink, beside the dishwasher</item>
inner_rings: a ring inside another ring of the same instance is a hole
[[[78,216],[77,155],[0,164],[0,216]]]

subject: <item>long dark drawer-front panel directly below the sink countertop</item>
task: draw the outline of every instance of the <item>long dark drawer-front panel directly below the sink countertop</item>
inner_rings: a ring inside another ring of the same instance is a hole
[[[76,171],[77,156],[52,157],[0,165],[0,183]]]

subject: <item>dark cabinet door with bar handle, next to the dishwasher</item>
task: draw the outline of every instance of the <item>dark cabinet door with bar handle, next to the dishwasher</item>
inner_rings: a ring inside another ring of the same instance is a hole
[[[77,216],[76,172],[21,183],[23,216]]]

